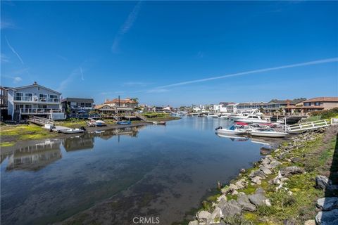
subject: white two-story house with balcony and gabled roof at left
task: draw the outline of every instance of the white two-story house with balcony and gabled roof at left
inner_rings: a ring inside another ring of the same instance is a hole
[[[41,86],[32,85],[7,89],[8,115],[12,120],[23,120],[29,115],[46,117],[51,120],[64,120],[61,108],[61,93]]]

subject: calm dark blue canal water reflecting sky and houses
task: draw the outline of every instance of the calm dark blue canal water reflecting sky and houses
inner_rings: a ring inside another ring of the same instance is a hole
[[[180,221],[217,181],[261,158],[264,142],[217,136],[230,121],[184,117],[37,141],[1,158],[1,224]],[[69,219],[70,218],[70,219]],[[66,220],[68,219],[68,220]]]

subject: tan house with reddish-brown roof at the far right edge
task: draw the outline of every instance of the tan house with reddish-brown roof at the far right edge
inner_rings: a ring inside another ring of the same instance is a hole
[[[338,97],[310,98],[296,105],[289,105],[286,110],[291,114],[306,115],[313,111],[330,110],[338,107]]]

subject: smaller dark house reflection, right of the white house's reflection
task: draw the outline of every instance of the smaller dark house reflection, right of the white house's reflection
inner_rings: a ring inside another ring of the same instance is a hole
[[[72,150],[84,150],[94,148],[94,136],[84,134],[79,137],[70,137],[63,141],[63,147],[67,152]]]

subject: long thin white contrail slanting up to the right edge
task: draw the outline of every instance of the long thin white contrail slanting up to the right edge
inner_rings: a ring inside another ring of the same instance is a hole
[[[223,75],[223,76],[218,76],[218,77],[208,77],[208,78],[204,78],[204,79],[194,79],[194,80],[190,80],[190,81],[187,81],[187,82],[180,82],[180,83],[176,83],[176,84],[158,86],[158,87],[156,87],[156,89],[163,89],[163,88],[172,87],[172,86],[181,86],[181,85],[184,85],[184,84],[208,82],[208,81],[213,80],[213,79],[223,79],[223,78],[227,78],[227,77],[237,77],[237,76],[242,76],[242,75],[250,75],[250,74],[258,73],[258,72],[268,72],[268,71],[272,71],[272,70],[282,70],[282,69],[287,69],[287,68],[298,68],[298,67],[306,66],[306,65],[317,65],[317,64],[333,63],[333,62],[338,62],[338,58],[326,58],[326,59],[315,60],[315,61],[310,61],[310,62],[306,62],[306,63],[296,63],[296,64],[292,64],[292,65],[282,65],[282,66],[277,66],[275,68],[250,70],[250,71],[237,72],[237,73],[232,73],[230,75]]]

